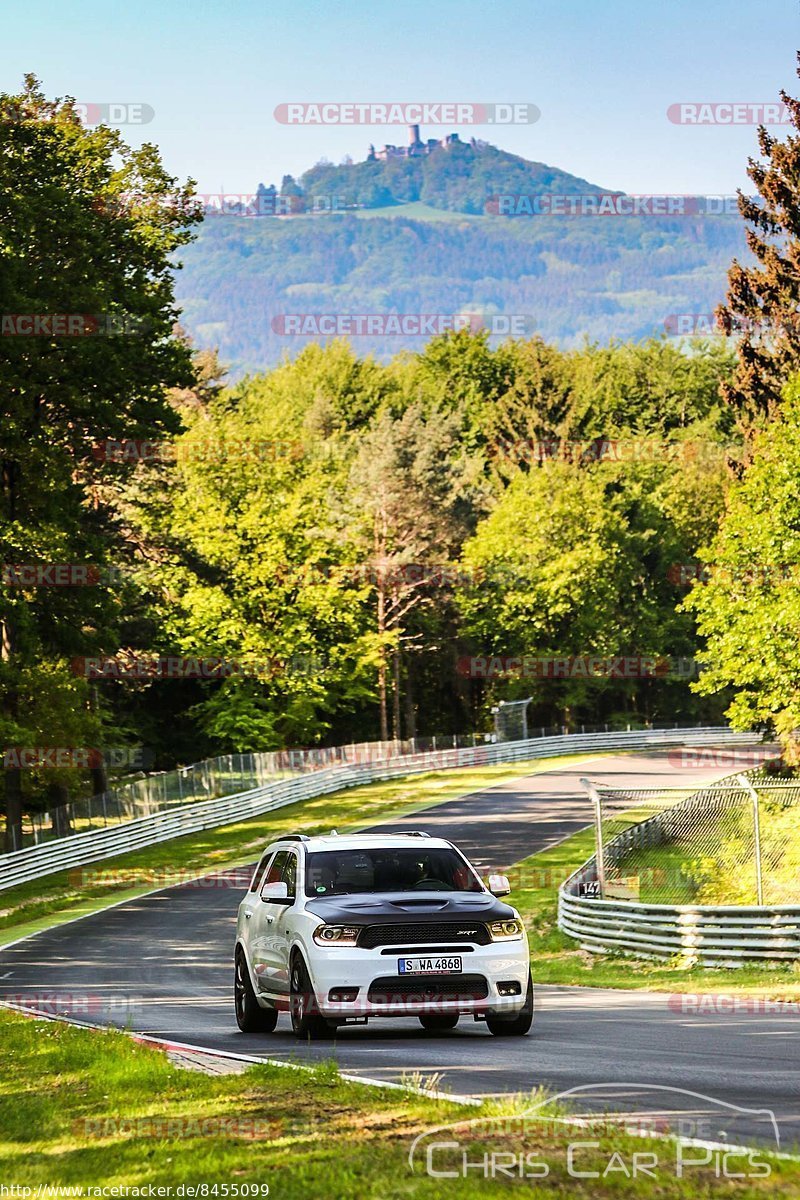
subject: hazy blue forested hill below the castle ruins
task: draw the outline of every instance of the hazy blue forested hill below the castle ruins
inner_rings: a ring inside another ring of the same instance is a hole
[[[675,314],[710,313],[730,259],[746,257],[739,217],[692,205],[675,217],[542,216],[530,205],[500,216],[489,197],[621,193],[483,143],[318,163],[275,194],[296,215],[209,216],[178,275],[186,328],[218,346],[234,376],[307,344],[283,332],[285,314],[516,316],[565,347],[670,332]],[[353,338],[380,358],[422,341]]]

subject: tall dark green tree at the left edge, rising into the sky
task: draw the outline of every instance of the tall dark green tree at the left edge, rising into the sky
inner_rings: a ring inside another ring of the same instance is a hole
[[[173,336],[172,256],[198,212],[191,185],[176,185],[152,145],[133,151],[116,131],[86,130],[73,101],[46,100],[32,77],[19,95],[0,95],[0,127],[2,562],[104,564],[119,541],[98,492],[108,467],[92,448],[178,427],[166,389],[187,384],[191,364]],[[40,318],[35,336],[25,336],[29,318]],[[96,650],[116,610],[108,588],[6,592],[8,726],[36,733],[23,672],[42,656]],[[5,809],[12,840],[16,769],[5,772]]]

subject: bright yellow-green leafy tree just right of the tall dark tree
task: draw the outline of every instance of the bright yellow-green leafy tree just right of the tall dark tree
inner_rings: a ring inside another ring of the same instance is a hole
[[[343,343],[309,347],[185,407],[162,493],[137,502],[163,644],[243,667],[190,709],[217,751],[318,743],[374,701],[369,584],[339,512],[354,438],[392,390]]]

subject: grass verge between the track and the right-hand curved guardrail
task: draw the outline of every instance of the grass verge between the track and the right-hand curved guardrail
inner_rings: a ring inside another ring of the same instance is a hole
[[[616,952],[590,954],[582,950],[575,938],[558,928],[558,889],[594,850],[594,830],[585,829],[552,850],[517,863],[510,871],[513,889],[510,900],[528,925],[536,983],[670,992],[721,991],[800,1001],[800,964],[756,964],[736,970],[686,967],[676,960],[650,961]]]

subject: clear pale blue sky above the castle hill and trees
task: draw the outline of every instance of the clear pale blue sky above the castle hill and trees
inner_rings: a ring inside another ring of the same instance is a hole
[[[398,127],[289,127],[287,101],[533,102],[536,125],[462,128],[628,192],[732,192],[754,128],[672,125],[676,101],[800,90],[798,0],[37,0],[6,4],[0,89],[151,104],[138,144],[199,190],[248,191]],[[423,136],[445,130],[423,128]]]

